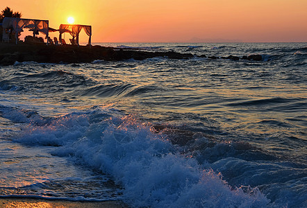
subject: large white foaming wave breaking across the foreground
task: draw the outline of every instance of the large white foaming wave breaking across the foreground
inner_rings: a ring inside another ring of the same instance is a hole
[[[269,202],[258,189],[229,187],[222,175],[181,155],[151,125],[108,112],[98,112],[103,116],[97,122],[97,112],[67,114],[45,125],[35,125],[30,116],[33,121],[14,141],[54,146],[53,155],[69,155],[112,175],[133,207],[265,207]]]

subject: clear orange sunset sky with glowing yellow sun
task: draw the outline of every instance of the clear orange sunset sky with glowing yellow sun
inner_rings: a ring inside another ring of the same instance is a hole
[[[307,42],[307,0],[1,0],[1,6],[49,19],[53,28],[72,16],[75,24],[92,25],[92,42]]]

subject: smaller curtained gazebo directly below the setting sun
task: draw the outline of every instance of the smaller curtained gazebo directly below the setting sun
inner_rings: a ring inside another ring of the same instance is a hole
[[[81,25],[81,24],[61,24],[58,31],[60,32],[59,40],[62,40],[62,34],[63,33],[69,33],[72,35],[73,39],[76,38],[76,44],[79,44],[79,33],[81,30],[84,30],[85,33],[90,36],[88,39],[88,44],[91,44],[91,38],[92,38],[92,26],[90,25]]]

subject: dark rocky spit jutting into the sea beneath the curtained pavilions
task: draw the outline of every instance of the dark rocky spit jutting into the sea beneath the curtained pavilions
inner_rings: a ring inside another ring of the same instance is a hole
[[[208,58],[208,60],[263,60],[261,55],[249,55],[242,58],[234,55],[216,57],[193,55],[192,53],[177,53],[174,51],[154,52],[140,49],[117,49],[103,46],[73,46],[73,45],[44,45],[44,44],[0,44],[0,65],[12,65],[15,62],[42,63],[80,63],[94,60],[144,60],[147,58],[167,57],[171,59]]]

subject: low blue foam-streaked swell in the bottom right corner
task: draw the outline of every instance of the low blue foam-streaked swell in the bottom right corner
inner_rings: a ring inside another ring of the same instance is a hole
[[[227,157],[215,162],[213,168],[221,171],[229,184],[243,182],[243,185],[260,187],[272,201],[267,207],[304,207],[306,202],[306,191],[302,188],[306,184],[304,166],[290,162],[247,162]]]

